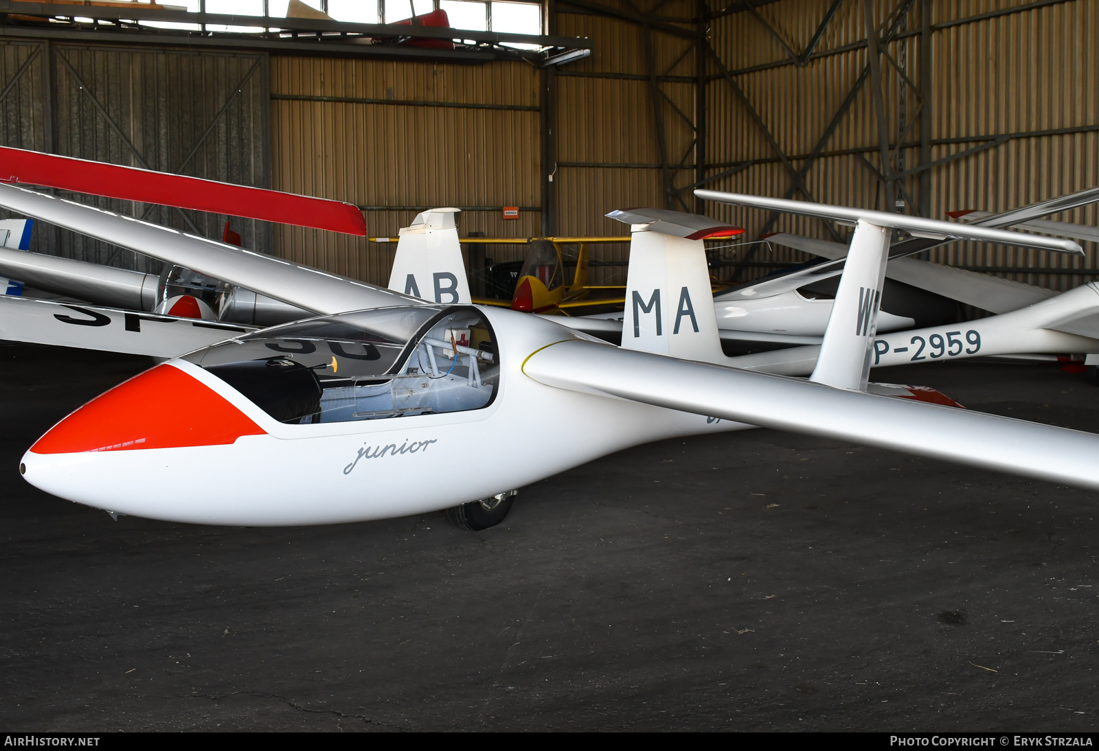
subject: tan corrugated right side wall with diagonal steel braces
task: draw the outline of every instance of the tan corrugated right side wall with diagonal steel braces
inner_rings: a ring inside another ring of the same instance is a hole
[[[831,0],[779,0],[759,9],[795,51],[811,38]],[[897,37],[886,47],[919,86],[922,71],[921,11],[923,2],[878,0],[880,24],[895,9],[909,5],[896,24]],[[931,159],[944,159],[989,146],[972,156],[931,170],[930,209],[919,206],[919,176],[903,180],[906,211],[944,217],[954,209],[1002,211],[1099,184],[1099,3],[1066,0],[1022,12],[995,14],[1020,3],[1014,0],[933,0],[931,9],[932,125]],[[973,20],[980,14],[991,18]],[[789,63],[774,36],[748,13],[715,20],[714,46],[759,111],[796,167],[818,146],[830,121],[867,65],[863,7],[845,0],[817,47],[819,57],[806,67]],[[896,68],[882,59],[882,100],[889,142],[900,142],[895,171],[919,165],[920,99]],[[790,177],[778,162],[762,131],[748,119],[723,80],[708,88],[710,173],[758,159],[736,175],[712,183],[717,190],[782,195]],[[917,122],[906,128],[913,117]],[[1002,143],[993,141],[997,136]],[[864,158],[869,165],[864,161]],[[872,90],[862,86],[850,110],[823,144],[823,156],[806,176],[813,199],[829,203],[882,209],[878,130]],[[803,198],[798,193],[795,198]],[[764,224],[762,212],[713,208],[753,233]],[[1095,225],[1096,206],[1055,216]],[[784,216],[773,231],[829,237],[818,222]],[[1083,283],[1094,276],[1064,273],[1099,268],[1099,248],[1086,244],[1086,259],[979,244],[954,244],[933,253],[943,262],[970,268],[1041,267],[1057,272],[1011,273],[1010,277],[1054,289]],[[795,251],[776,249],[756,260],[801,260]],[[744,269],[745,277],[769,269]],[[998,271],[1002,273],[1001,271]]]

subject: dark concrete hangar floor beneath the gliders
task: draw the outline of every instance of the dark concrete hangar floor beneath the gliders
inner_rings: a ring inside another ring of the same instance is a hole
[[[1096,493],[771,430],[607,457],[476,534],[112,522],[19,478],[145,367],[0,346],[5,728],[1095,727]],[[875,379],[1099,430],[1052,366]]]

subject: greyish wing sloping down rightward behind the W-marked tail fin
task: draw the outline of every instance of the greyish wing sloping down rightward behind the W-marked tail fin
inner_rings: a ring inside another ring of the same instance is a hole
[[[832,260],[847,256],[847,246],[842,243],[800,235],[779,233],[770,235],[767,242]],[[915,258],[893,258],[886,266],[886,276],[990,313],[1010,313],[1057,294],[1032,284]]]

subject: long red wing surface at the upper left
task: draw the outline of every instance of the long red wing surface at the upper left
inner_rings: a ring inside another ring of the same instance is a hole
[[[366,236],[363,212],[349,203],[21,148],[0,147],[0,181]]]

